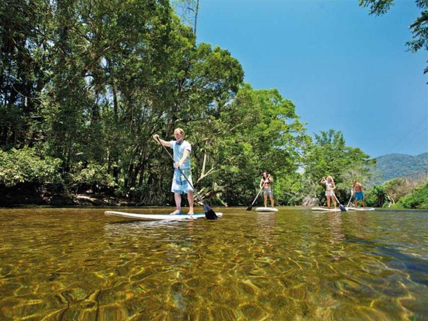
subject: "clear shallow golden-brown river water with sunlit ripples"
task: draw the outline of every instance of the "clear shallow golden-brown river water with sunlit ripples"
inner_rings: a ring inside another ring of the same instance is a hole
[[[428,319],[427,211],[105,210],[0,209],[0,320]]]

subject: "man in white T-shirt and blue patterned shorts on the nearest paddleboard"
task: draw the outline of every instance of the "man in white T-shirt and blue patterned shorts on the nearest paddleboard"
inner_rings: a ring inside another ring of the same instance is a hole
[[[177,209],[170,213],[171,215],[181,214],[181,194],[187,193],[187,200],[189,201],[189,213],[193,213],[193,189],[187,182],[186,178],[178,170],[180,167],[181,171],[186,175],[187,179],[193,185],[192,173],[190,166],[190,153],[192,152],[192,146],[188,141],[184,140],[184,130],[176,128],[174,130],[175,140],[164,141],[160,139],[159,135],[153,135],[153,139],[162,144],[165,147],[169,147],[174,151],[174,176],[172,177],[171,192],[174,193],[174,200]]]

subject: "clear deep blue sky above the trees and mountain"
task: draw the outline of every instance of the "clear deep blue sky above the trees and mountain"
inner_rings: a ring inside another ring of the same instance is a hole
[[[201,0],[198,42],[227,49],[255,89],[293,101],[308,133],[341,130],[372,157],[428,151],[428,53],[407,52],[415,1]]]

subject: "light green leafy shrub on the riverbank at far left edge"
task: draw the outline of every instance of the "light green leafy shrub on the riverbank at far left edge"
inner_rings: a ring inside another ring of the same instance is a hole
[[[0,183],[7,187],[23,182],[57,183],[61,181],[60,159],[41,158],[32,148],[0,150]]]

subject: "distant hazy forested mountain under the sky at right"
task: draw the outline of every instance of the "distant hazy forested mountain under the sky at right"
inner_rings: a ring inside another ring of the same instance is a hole
[[[411,156],[387,154],[376,158],[376,183],[383,183],[396,177],[417,177],[428,174],[428,153]]]

